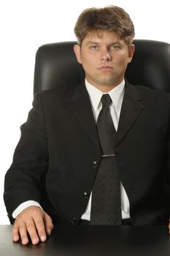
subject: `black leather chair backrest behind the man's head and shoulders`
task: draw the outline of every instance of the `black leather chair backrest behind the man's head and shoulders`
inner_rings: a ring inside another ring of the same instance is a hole
[[[54,89],[65,81],[77,86],[85,78],[82,66],[74,56],[77,42],[42,45],[36,52],[34,93]],[[125,78],[134,85],[170,92],[170,45],[167,42],[135,39],[134,59]]]

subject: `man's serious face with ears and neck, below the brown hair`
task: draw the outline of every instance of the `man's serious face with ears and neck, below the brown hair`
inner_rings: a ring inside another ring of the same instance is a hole
[[[101,91],[109,91],[123,81],[134,45],[126,45],[114,32],[100,31],[89,33],[81,47],[74,45],[74,52],[88,82]]]

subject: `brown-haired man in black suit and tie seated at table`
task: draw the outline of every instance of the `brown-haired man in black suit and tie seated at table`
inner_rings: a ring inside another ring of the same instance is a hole
[[[85,81],[35,95],[5,178],[23,244],[58,223],[169,224],[169,94],[124,80],[134,25],[120,7],[85,10],[74,31]]]

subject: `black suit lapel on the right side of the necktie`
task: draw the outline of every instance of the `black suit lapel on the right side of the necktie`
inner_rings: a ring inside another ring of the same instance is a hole
[[[131,84],[126,81],[123,105],[121,108],[120,120],[117,128],[117,145],[125,137],[129,129],[131,129],[143,108],[144,105],[142,105],[141,95],[134,86],[131,86]]]

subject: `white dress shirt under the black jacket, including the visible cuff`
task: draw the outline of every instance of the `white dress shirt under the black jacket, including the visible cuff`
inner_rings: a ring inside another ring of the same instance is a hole
[[[100,110],[102,108],[101,96],[104,94],[104,92],[90,85],[90,83],[88,83],[87,80],[85,80],[85,86],[86,86],[86,89],[88,90],[95,121],[97,121],[98,114],[100,113]],[[112,104],[110,105],[110,113],[111,113],[112,121],[116,130],[118,127],[118,121],[120,117],[120,110],[122,107],[124,91],[125,91],[125,81],[123,80],[123,82],[120,83],[119,86],[116,86],[114,89],[108,92],[109,96],[112,99]],[[122,218],[128,219],[130,218],[129,200],[125,192],[125,189],[123,188],[123,185],[121,183],[120,183],[120,195],[121,195]],[[85,213],[82,214],[82,219],[90,220],[91,196],[92,196],[92,193],[90,194],[88,206],[85,210]],[[39,203],[37,203],[36,201],[28,200],[24,203],[21,203],[18,206],[18,208],[15,209],[15,211],[12,214],[12,217],[15,219],[18,216],[18,214],[20,214],[20,212],[23,211],[28,206],[39,206],[40,208],[42,208],[39,205]]]

